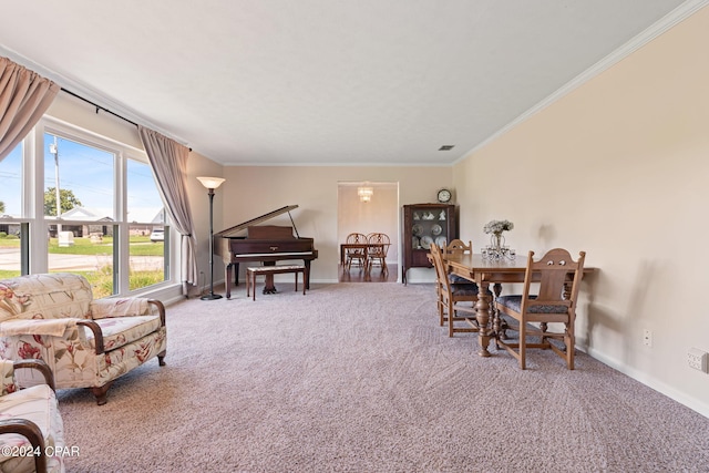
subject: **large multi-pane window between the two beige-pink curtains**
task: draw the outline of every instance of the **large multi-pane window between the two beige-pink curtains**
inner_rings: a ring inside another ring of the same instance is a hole
[[[0,277],[80,273],[94,297],[169,280],[169,226],[142,151],[44,119],[0,177]]]

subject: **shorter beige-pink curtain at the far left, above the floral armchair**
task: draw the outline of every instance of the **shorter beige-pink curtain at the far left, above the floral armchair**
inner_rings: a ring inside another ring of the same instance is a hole
[[[49,79],[0,58],[0,161],[30,133],[59,90]]]

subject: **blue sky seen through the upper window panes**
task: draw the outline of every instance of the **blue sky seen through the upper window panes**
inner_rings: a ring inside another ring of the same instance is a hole
[[[54,136],[44,135],[43,189],[55,186],[54,155],[50,145]],[[62,137],[56,138],[59,150],[59,187],[71,189],[82,206],[89,208],[113,207],[114,165],[113,154]],[[0,200],[6,214],[19,216],[21,212],[21,146],[0,162]],[[155,208],[163,206],[148,164],[129,160],[127,208]]]

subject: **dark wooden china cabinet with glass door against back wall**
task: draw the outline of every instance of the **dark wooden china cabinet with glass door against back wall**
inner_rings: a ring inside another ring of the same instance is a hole
[[[410,268],[431,268],[428,254],[431,244],[445,247],[458,238],[458,216],[452,204],[411,204],[403,206],[401,238],[401,279],[407,284]]]

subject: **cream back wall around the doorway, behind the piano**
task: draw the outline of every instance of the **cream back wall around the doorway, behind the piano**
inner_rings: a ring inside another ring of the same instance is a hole
[[[338,188],[345,181],[399,183],[399,203],[434,202],[440,187],[450,185],[452,167],[377,166],[232,166],[225,167],[224,228],[297,204],[292,217],[301,237],[315,239],[318,259],[314,282],[337,282],[339,264]],[[376,196],[374,196],[376,198]],[[397,219],[401,219],[401,208]],[[290,225],[287,217],[274,225]],[[400,226],[398,226],[399,233]],[[398,238],[400,239],[400,238]],[[400,277],[400,275],[399,275]],[[429,278],[431,281],[431,278]],[[243,276],[240,276],[243,280]]]

